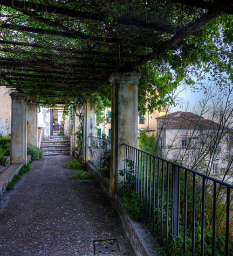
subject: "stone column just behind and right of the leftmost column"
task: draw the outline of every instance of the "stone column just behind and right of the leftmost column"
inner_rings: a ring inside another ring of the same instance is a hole
[[[27,105],[27,142],[38,147],[38,103],[29,102]]]

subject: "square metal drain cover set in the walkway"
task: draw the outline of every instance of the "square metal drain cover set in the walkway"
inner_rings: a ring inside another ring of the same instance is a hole
[[[94,241],[95,255],[119,253],[117,239]]]

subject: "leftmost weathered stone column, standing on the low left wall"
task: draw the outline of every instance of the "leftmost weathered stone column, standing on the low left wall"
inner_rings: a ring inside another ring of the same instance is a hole
[[[27,163],[27,93],[11,93],[11,164]]]

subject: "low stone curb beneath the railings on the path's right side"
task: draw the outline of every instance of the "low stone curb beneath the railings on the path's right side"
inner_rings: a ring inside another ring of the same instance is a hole
[[[101,172],[97,171],[93,164],[87,162],[86,167],[89,173],[96,178],[107,194],[110,195],[109,179],[105,178]],[[159,254],[154,249],[155,246],[158,246],[155,242],[155,238],[151,235],[144,223],[130,219],[130,216],[123,208],[120,195],[116,195],[114,204],[137,256],[158,256]]]

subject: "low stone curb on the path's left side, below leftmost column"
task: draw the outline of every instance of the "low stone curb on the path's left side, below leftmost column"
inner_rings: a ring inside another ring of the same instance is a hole
[[[31,155],[27,155],[27,164],[32,159]],[[0,174],[0,198],[3,196],[3,193],[6,191],[7,185],[12,181],[15,175],[17,175],[20,171],[20,168],[23,164],[12,164]]]

